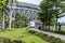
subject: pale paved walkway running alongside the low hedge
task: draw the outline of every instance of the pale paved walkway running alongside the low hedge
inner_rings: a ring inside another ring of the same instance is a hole
[[[61,40],[65,40],[65,35],[62,35],[62,34],[52,33],[52,32],[47,32],[47,31],[41,31],[41,30],[35,29],[35,28],[30,28],[30,30],[35,30],[35,31],[38,31],[38,32],[42,32],[42,33],[46,33],[46,34],[55,37],[55,38],[60,38]]]

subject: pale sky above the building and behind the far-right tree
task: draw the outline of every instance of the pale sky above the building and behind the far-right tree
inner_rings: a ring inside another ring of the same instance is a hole
[[[20,2],[32,3],[39,5],[41,0],[18,0]],[[65,23],[65,17],[58,18],[58,23]]]

